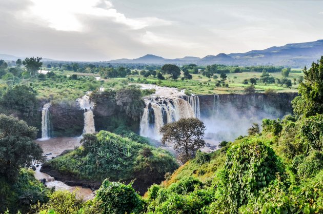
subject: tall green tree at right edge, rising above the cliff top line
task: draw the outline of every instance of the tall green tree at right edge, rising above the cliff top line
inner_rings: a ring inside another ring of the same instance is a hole
[[[293,101],[294,112],[306,117],[323,113],[323,56],[312,67],[304,70],[304,82],[298,86],[301,96]]]

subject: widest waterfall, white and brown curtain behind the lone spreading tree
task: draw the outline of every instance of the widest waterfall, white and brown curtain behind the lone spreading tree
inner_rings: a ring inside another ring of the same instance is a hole
[[[181,98],[145,99],[146,107],[140,121],[140,135],[159,140],[159,130],[167,123],[181,118],[194,118],[195,113],[189,104]]]

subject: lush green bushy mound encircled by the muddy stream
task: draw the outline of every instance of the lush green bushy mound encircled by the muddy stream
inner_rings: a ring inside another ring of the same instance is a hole
[[[81,143],[83,147],[53,159],[49,164],[60,172],[73,174],[79,179],[136,179],[134,185],[142,185],[138,188],[142,191],[147,185],[162,181],[166,172],[173,172],[177,168],[170,153],[149,146],[146,141],[138,143],[100,131],[97,135],[85,134]]]

